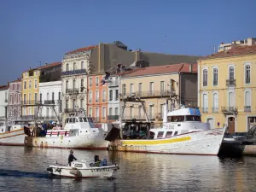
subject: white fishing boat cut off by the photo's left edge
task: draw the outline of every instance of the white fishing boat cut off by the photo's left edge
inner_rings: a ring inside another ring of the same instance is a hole
[[[26,134],[24,127],[28,127],[28,122],[15,120],[13,125],[7,125],[6,121],[0,121],[0,145],[24,146]]]

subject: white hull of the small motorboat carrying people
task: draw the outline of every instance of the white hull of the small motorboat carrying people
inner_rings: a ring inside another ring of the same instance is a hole
[[[49,174],[57,177],[113,177],[119,166],[99,166],[87,169],[74,169],[71,166],[49,166]]]

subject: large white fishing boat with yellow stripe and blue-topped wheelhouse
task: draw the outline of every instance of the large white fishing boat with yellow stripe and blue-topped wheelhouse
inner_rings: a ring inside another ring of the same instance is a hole
[[[201,113],[198,108],[180,108],[168,112],[167,106],[168,101],[166,101],[161,128],[150,129],[142,139],[138,137],[114,141],[112,139],[109,149],[160,154],[218,154],[226,126],[210,129],[208,123],[201,122]],[[137,127],[133,130],[133,135],[136,131],[141,130]]]

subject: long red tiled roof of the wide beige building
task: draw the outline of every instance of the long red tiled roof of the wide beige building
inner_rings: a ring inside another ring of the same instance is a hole
[[[145,67],[137,68],[131,71],[126,71],[124,73],[119,73],[122,77],[134,77],[134,76],[144,76],[144,75],[153,75],[153,74],[163,74],[163,73],[189,73],[188,63],[172,64],[166,66],[157,66],[157,67]],[[197,73],[197,64],[192,64],[192,73]]]

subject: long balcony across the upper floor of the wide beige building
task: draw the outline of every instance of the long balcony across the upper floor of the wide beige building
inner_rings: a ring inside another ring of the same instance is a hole
[[[120,94],[120,99],[124,99],[125,96],[139,96],[141,98],[152,98],[152,97],[168,97],[171,95],[170,90],[148,90],[148,91],[137,91],[132,93]]]

